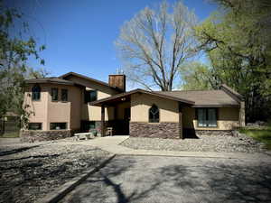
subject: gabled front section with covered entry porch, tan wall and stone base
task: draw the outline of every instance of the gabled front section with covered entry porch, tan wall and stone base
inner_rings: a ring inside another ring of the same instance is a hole
[[[182,139],[182,108],[192,106],[193,102],[135,89],[91,105],[101,107],[102,136],[112,128],[113,134]],[[155,121],[149,120],[152,106],[159,109],[159,118]],[[105,120],[106,112],[110,118],[108,121]]]

